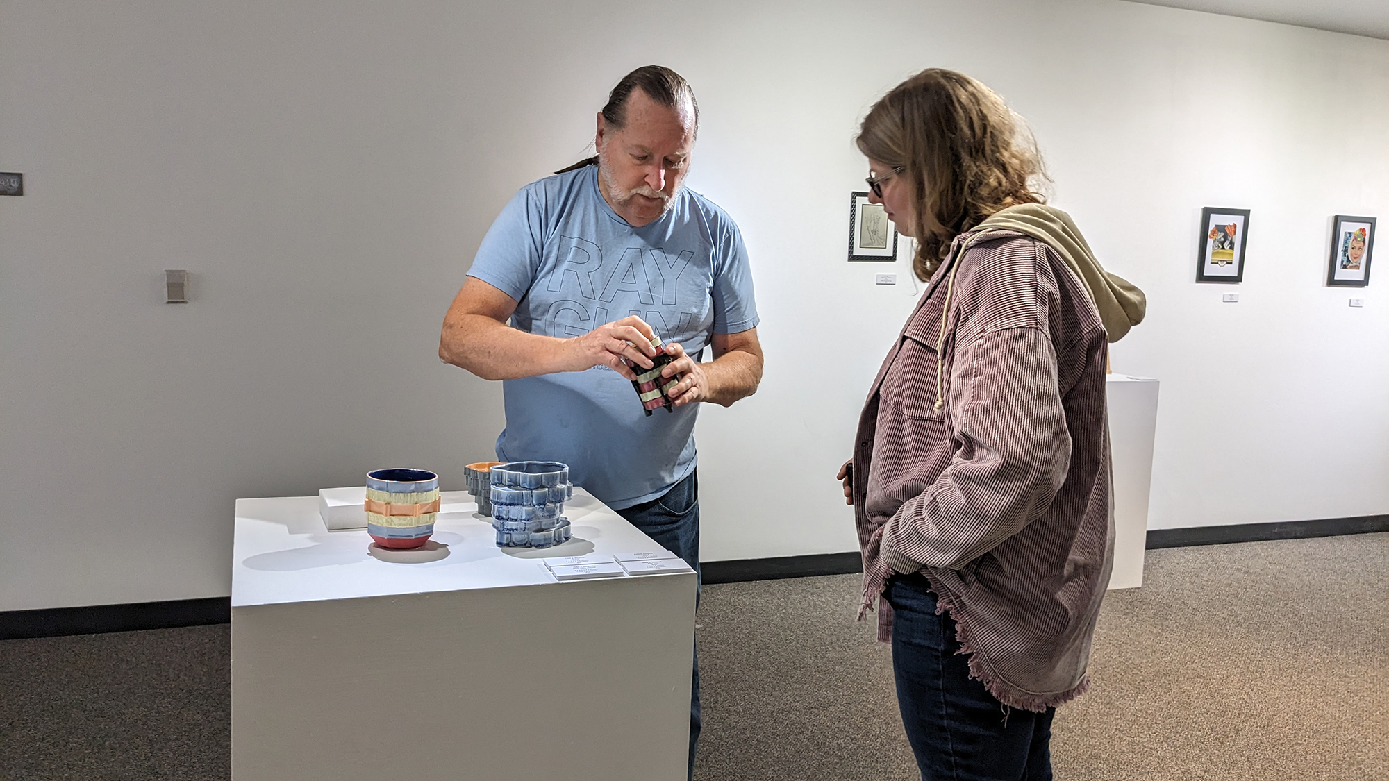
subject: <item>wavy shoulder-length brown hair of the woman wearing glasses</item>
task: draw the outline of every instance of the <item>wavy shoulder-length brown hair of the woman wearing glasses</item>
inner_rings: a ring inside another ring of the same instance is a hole
[[[917,211],[921,281],[940,265],[956,236],[1000,208],[1046,203],[1033,188],[1046,179],[1036,140],[1021,117],[989,88],[964,74],[931,68],[874,104],[858,129],[858,150],[904,168]]]

